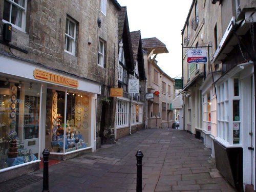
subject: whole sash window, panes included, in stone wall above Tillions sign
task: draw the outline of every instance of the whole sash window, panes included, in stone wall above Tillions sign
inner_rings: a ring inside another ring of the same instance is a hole
[[[75,55],[76,45],[76,22],[67,17],[66,19],[66,33],[65,33],[65,51]]]

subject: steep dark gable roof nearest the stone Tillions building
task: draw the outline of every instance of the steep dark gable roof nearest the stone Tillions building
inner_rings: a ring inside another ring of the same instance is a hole
[[[134,59],[126,7],[121,7],[121,10],[118,11],[118,39],[119,42],[123,40],[125,65],[130,69],[130,72],[133,72]]]

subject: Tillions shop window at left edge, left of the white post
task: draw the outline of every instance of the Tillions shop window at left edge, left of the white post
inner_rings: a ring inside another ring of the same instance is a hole
[[[0,169],[38,159],[40,84],[0,81]]]

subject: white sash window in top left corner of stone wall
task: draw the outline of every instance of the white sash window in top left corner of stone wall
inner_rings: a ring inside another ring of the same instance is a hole
[[[11,23],[15,28],[25,31],[27,0],[5,0],[4,23]]]

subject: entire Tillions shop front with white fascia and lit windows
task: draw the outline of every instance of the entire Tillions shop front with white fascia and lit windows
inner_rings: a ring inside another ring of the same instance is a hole
[[[5,55],[0,60],[0,175],[38,168],[44,148],[62,160],[95,151],[100,84]]]

